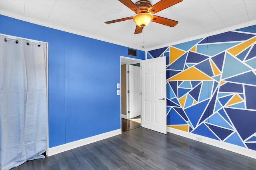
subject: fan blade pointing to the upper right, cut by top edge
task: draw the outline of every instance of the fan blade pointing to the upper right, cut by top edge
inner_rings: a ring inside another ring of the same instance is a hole
[[[156,12],[162,11],[165,8],[173,6],[174,4],[177,4],[181,1],[182,0],[160,0],[159,2],[148,8],[148,12],[150,12],[151,14],[155,14]]]

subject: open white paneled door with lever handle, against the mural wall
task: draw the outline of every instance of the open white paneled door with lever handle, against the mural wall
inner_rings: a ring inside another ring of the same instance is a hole
[[[141,61],[141,126],[166,134],[166,57]]]

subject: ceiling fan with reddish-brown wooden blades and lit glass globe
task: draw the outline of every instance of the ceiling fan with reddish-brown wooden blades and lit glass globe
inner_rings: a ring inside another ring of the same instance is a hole
[[[128,8],[130,8],[132,11],[134,11],[136,13],[136,16],[107,21],[105,23],[115,23],[115,22],[133,19],[133,21],[136,22],[137,24],[134,34],[138,34],[142,32],[142,29],[146,27],[150,21],[167,25],[169,27],[174,27],[178,23],[178,21],[170,20],[160,16],[152,16],[150,14],[155,14],[156,12],[164,10],[165,8],[168,8],[172,5],[175,5],[181,2],[182,0],[160,0],[158,3],[154,4],[153,6],[148,0],[139,0],[135,4],[132,2],[132,0],[119,0],[119,1],[122,2]]]

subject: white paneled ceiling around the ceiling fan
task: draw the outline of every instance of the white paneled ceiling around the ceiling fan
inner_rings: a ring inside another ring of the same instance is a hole
[[[155,14],[179,23],[151,22],[144,28],[145,48],[132,20],[104,23],[135,15],[118,0],[0,0],[0,14],[145,51],[254,21],[256,0],[183,0]]]

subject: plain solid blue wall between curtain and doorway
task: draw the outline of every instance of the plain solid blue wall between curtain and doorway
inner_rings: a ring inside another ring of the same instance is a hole
[[[0,15],[0,33],[49,43],[49,147],[120,129],[120,56],[128,48]]]

